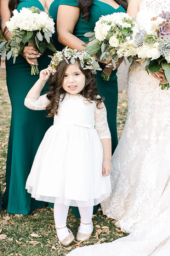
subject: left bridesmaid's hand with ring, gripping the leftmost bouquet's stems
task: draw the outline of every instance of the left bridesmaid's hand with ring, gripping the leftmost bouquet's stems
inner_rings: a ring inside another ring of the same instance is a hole
[[[24,57],[30,65],[34,65],[31,59],[39,58],[41,53],[32,46],[25,46],[23,51],[21,52],[22,57]]]

